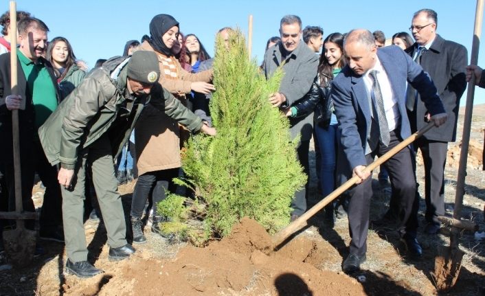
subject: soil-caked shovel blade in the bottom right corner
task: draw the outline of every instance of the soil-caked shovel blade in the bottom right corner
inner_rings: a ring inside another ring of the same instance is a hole
[[[434,262],[433,277],[440,292],[455,286],[462,267],[463,251],[458,248],[441,247]]]

